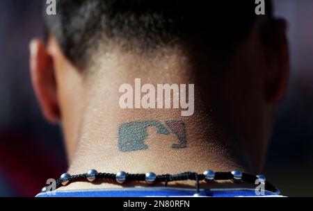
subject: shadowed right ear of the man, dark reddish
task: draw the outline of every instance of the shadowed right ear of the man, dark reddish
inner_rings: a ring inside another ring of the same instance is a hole
[[[265,93],[270,103],[284,99],[289,81],[289,47],[287,22],[273,19],[264,28],[263,42],[266,54]]]

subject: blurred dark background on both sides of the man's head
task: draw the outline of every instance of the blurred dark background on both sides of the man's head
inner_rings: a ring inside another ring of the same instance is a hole
[[[42,2],[0,1],[0,196],[34,196],[67,169],[61,130],[42,119],[29,78],[29,41],[42,37]],[[284,195],[313,196],[313,1],[274,4],[290,24],[291,80],[264,174]]]

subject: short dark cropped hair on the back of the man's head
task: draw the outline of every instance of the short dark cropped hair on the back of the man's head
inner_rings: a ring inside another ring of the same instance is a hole
[[[138,49],[198,43],[231,50],[255,23],[256,6],[255,0],[58,0],[57,15],[45,19],[65,56],[82,67],[99,42]],[[266,15],[272,16],[270,0]]]

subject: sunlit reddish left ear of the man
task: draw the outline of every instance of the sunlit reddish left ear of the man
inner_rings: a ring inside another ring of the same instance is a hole
[[[42,113],[52,124],[57,124],[61,112],[58,105],[54,60],[40,40],[32,40],[30,43],[30,69],[33,89]]]

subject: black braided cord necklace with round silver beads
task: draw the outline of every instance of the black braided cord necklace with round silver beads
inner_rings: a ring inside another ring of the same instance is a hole
[[[181,181],[181,180],[195,180],[196,194],[200,194],[200,181],[205,180],[207,183],[213,182],[214,180],[233,180],[235,183],[247,182],[255,184],[255,181],[258,179],[259,183],[264,184],[266,191],[273,192],[275,194],[280,194],[279,189],[274,185],[269,183],[263,175],[251,175],[246,174],[241,171],[232,171],[232,172],[214,172],[211,170],[204,171],[203,174],[197,174],[195,172],[184,172],[181,174],[163,174],[156,175],[153,172],[147,174],[127,174],[124,171],[118,172],[118,174],[109,174],[97,172],[95,169],[89,170],[86,174],[70,175],[62,174],[61,177],[56,180],[56,189],[61,186],[66,186],[69,183],[73,183],[79,180],[87,179],[89,182],[93,183],[95,180],[113,180],[120,184],[126,182],[145,182],[149,185],[154,183],[164,183],[165,187],[168,186],[168,183],[172,181]],[[43,187],[41,192],[49,192],[48,187]]]

